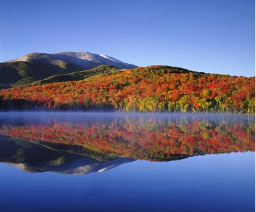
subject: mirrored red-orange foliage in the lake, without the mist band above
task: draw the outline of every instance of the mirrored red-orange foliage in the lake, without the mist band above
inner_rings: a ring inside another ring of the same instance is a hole
[[[152,117],[112,120],[46,121],[44,124],[2,125],[0,134],[50,143],[79,145],[146,160],[168,160],[173,154],[196,156],[255,151],[255,120],[213,121],[206,118]]]

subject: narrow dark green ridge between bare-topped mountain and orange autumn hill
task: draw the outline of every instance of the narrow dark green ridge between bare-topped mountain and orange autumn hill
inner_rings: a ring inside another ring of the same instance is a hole
[[[65,81],[77,81],[77,80],[84,80],[85,78],[92,77],[94,75],[98,74],[107,74],[107,73],[115,73],[119,72],[120,69],[118,69],[115,66],[110,65],[101,65],[94,69],[90,70],[82,70],[79,72],[73,72],[71,74],[58,74],[54,75],[52,77],[45,78],[43,80],[35,81],[34,83],[31,83],[32,86],[39,85],[39,84],[48,84],[48,83],[60,83]]]

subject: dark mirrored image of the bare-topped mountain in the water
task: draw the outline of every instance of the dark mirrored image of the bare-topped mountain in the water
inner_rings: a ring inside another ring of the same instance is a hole
[[[66,148],[66,145],[59,145],[59,148],[61,146]],[[135,159],[113,158],[106,154],[104,160],[66,151],[54,151],[24,140],[12,140],[8,137],[1,137],[0,140],[0,162],[31,173],[51,171],[62,174],[88,174],[107,171]]]

